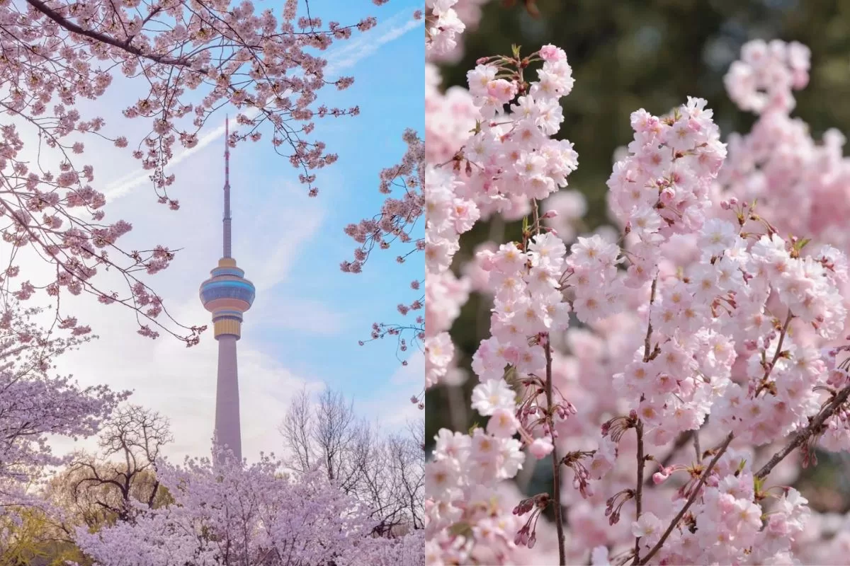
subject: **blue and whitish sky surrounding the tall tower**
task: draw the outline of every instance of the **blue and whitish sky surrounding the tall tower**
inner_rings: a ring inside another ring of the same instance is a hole
[[[354,76],[355,82],[343,92],[327,87],[320,101],[343,108],[359,105],[360,115],[317,122],[314,136],[339,154],[337,163],[317,172],[317,198],[306,196],[297,170],[275,154],[268,139],[231,151],[233,255],[258,288],[238,345],[243,454],[249,459],[259,451],[280,452],[276,426],[292,395],[304,386],[342,390],[354,397],[360,414],[385,425],[422,417],[409,401],[422,389],[422,356],[403,368],[394,341],[357,344],[368,336],[371,322],[398,320],[395,306],[416,298],[409,284],[423,277],[422,257],[399,266],[394,261],[399,253],[389,249],[373,255],[360,275],[339,270],[354,249],[343,227],[380,209],[379,172],[404,154],[405,128],[423,130],[422,22],[411,22],[417,8],[421,3],[411,0],[380,8],[368,0],[311,0],[311,13],[325,22],[351,23],[369,14],[378,18],[376,28],[355,33],[325,54],[338,75]],[[108,131],[120,128],[133,144],[150,125],[119,117],[139,96],[128,82],[116,81],[96,114],[105,116]],[[229,112],[235,115],[234,109]],[[201,137],[210,135],[210,143],[184,156],[176,152],[171,172],[177,179],[169,188],[181,203],[176,212],[156,204],[138,162],[108,144],[99,148],[87,140],[85,155],[88,162],[94,160],[95,182],[106,189],[106,220],[133,224],[122,247],[180,249],[172,266],[148,283],[184,324],[210,323],[197,293],[221,255],[224,140],[215,132],[224,112],[219,118],[201,132]],[[108,159],[97,159],[99,151]],[[131,401],[171,419],[176,439],[171,457],[207,455],[217,362],[212,330],[201,345],[187,349],[165,335],[153,341],[140,337],[132,313],[115,305],[90,298],[65,304],[73,305],[100,339],[60,358],[59,371],[73,373],[81,384],[132,389]]]

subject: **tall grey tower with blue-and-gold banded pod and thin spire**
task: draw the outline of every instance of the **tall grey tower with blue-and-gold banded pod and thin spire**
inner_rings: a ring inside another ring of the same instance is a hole
[[[218,340],[215,437],[219,446],[226,446],[241,461],[236,340],[241,336],[242,313],[251,308],[256,289],[230,256],[229,120],[224,124],[224,255],[210,272],[212,277],[201,283],[201,302],[212,312],[213,334]]]

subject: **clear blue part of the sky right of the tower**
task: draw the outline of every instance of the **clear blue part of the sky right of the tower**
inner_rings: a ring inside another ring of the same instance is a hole
[[[323,4],[344,6],[333,10],[339,21],[354,21],[358,13],[362,14],[359,2],[311,3],[311,9]],[[387,25],[398,28],[410,21],[420,4],[394,0],[378,13],[394,14]],[[376,29],[363,37],[380,36],[382,31]],[[264,336],[264,341],[283,345],[281,355],[294,369],[321,374],[349,395],[368,395],[397,369],[394,341],[385,339],[361,347],[357,340],[368,336],[371,322],[398,319],[395,305],[416,298],[409,283],[421,279],[424,273],[421,256],[399,266],[394,260],[399,253],[394,249],[373,254],[360,275],[339,271],[340,261],[349,259],[354,249],[354,241],[343,234],[343,227],[380,209],[383,196],[377,192],[377,175],[404,154],[401,132],[406,127],[423,132],[423,60],[422,27],[417,26],[361,59],[350,71],[345,70],[346,75],[355,77],[348,90],[325,92],[328,104],[338,100],[344,108],[356,101],[360,115],[326,120],[316,128],[317,136],[339,154],[337,163],[320,171],[317,180],[321,188],[318,199],[329,205],[329,210],[314,238],[298,255],[299,264],[311,276],[287,278],[279,288],[295,296],[322,300],[332,310],[346,313],[346,328],[334,339],[333,356],[322,354],[327,341],[321,337],[303,336],[297,331]],[[269,175],[275,174],[274,166],[270,167]]]

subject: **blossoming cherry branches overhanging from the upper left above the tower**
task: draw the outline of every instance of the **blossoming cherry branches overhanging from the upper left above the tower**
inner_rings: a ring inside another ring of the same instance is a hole
[[[377,20],[325,24],[306,0],[286,0],[279,14],[250,2],[27,0],[3,4],[0,18],[6,22],[0,30],[0,79],[8,86],[0,98],[8,116],[0,132],[5,219],[0,230],[8,244],[0,273],[3,296],[52,298],[56,321],[75,325],[60,308],[60,296],[92,294],[102,303],[133,309],[144,336],[166,331],[194,345],[204,327],[174,321],[142,278],[166,268],[175,252],[161,244],[119,247],[132,225],[105,220],[106,199],[94,166],[82,162],[86,141],[106,140],[115,151],[130,152],[150,171],[159,202],[176,210],[178,201],[168,193],[175,182],[168,170],[175,149],[195,147],[212,115],[233,105],[240,110],[240,128],[227,143],[266,135],[315,195],[317,171],[337,160],[312,135],[316,120],[358,114],[356,105],[321,104],[323,87],[344,89],[353,82],[327,76],[321,53]],[[117,77],[138,93],[125,101],[123,119],[149,125],[140,140],[122,136],[121,123],[83,114],[80,101],[102,98]],[[36,280],[22,273],[26,257],[47,262],[52,275]],[[118,273],[127,288],[108,287],[96,277],[105,271]]]

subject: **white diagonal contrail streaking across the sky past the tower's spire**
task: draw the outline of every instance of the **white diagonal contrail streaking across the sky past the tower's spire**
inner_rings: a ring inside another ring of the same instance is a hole
[[[405,23],[398,25],[402,20],[404,20]],[[357,39],[347,43],[344,47],[333,49],[326,58],[327,66],[325,72],[332,75],[336,74],[340,70],[352,67],[360,60],[369,57],[372,53],[375,53],[382,45],[395,41],[399,37],[404,36],[408,31],[414,30],[420,25],[422,25],[422,20],[413,20],[411,13],[407,10],[394,14],[388,18],[388,20],[384,21],[383,24],[379,24],[377,26],[376,31],[389,27],[387,31],[384,31],[380,36],[377,36],[377,38],[374,37],[373,32],[372,34],[357,37]],[[286,95],[286,92],[284,92],[284,95]],[[248,118],[253,118],[258,115],[258,113],[259,109],[254,108],[248,111],[246,115]],[[178,165],[222,136],[224,136],[224,123],[222,123],[221,126],[212,128],[212,130],[207,132],[206,135],[198,140],[198,143],[194,148],[184,149],[184,151],[181,151],[169,162],[168,165]],[[124,177],[117,179],[115,182],[112,182],[106,188],[106,198],[118,199],[127,193],[130,193],[133,188],[139,187],[139,185],[144,185],[144,183],[147,182],[150,182],[150,173],[148,171],[145,171],[144,169],[133,171],[132,173],[128,173]]]

